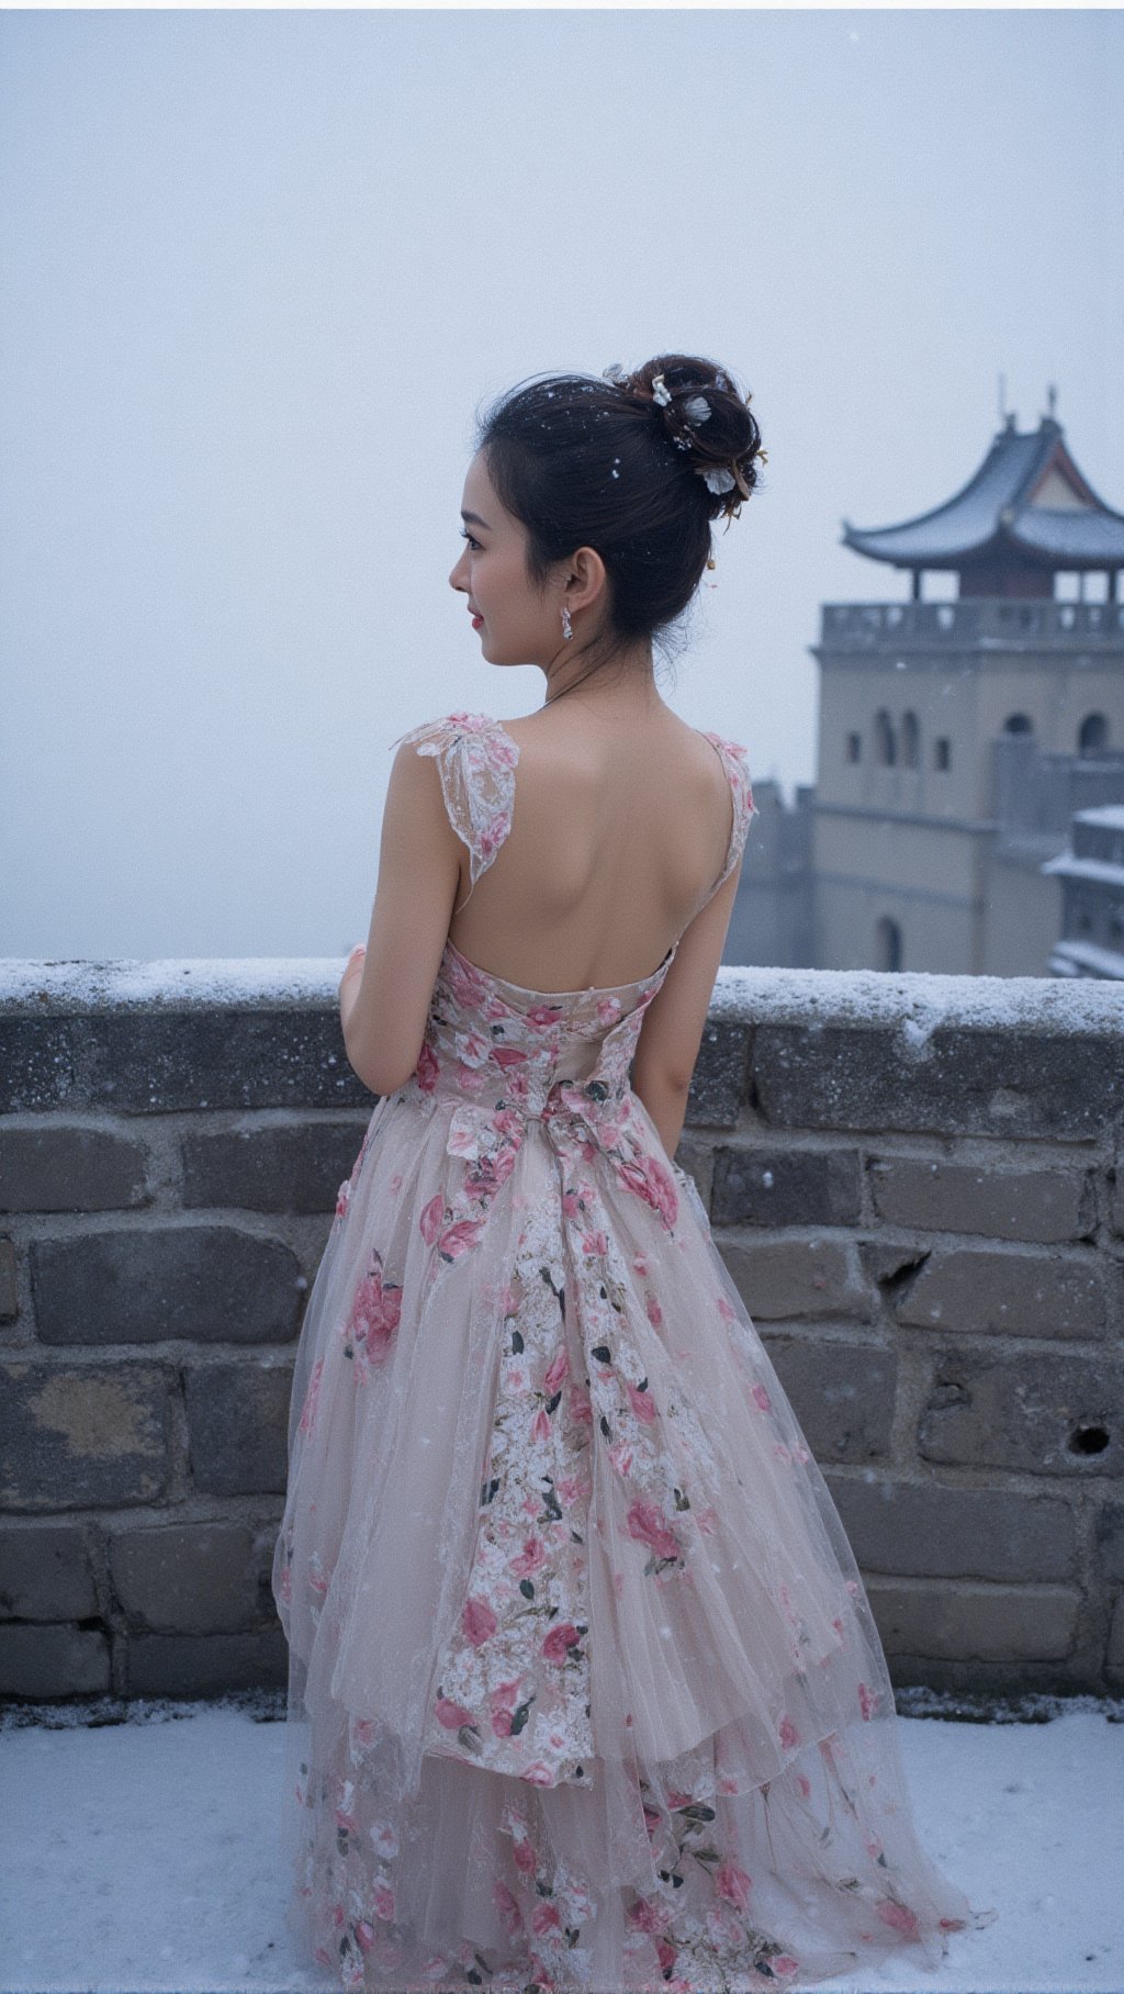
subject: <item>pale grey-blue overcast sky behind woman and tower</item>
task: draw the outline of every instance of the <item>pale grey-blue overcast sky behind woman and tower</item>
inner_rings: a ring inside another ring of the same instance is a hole
[[[331,955],[389,744],[512,718],[474,407],[698,351],[769,465],[666,698],[815,780],[839,546],[1058,387],[1124,508],[1116,10],[0,16],[0,953]],[[1114,82],[1116,80],[1116,82]]]

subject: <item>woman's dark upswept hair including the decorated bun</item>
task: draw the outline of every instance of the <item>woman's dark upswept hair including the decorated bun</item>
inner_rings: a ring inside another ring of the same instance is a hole
[[[526,526],[530,580],[542,586],[578,546],[602,556],[610,652],[682,616],[711,554],[711,520],[735,518],[757,485],[749,401],[715,361],[664,353],[630,375],[520,383],[478,417],[496,497]]]

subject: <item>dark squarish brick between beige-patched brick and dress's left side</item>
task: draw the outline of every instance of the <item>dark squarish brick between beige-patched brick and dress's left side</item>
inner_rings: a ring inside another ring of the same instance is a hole
[[[293,1364],[195,1364],[187,1372],[191,1478],[211,1496],[283,1494]]]

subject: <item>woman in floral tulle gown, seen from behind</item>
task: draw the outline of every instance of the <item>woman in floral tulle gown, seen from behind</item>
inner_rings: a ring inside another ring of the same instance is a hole
[[[729,373],[664,355],[514,389],[468,467],[450,582],[544,704],[395,756],[341,983],[381,1101],[305,1312],[273,1565],[289,1916],[347,1988],[807,1986],[973,1920],[672,1161],[753,798],[654,642],[763,455]]]

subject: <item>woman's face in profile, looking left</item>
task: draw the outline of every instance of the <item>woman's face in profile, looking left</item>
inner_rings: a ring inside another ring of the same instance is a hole
[[[554,602],[532,588],[526,526],[496,498],[480,453],[468,465],[460,518],[466,538],[448,580],[480,618],[472,628],[484,658],[488,664],[546,664],[562,644],[562,592]]]

